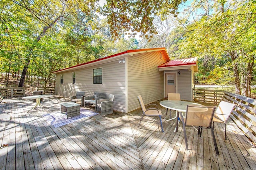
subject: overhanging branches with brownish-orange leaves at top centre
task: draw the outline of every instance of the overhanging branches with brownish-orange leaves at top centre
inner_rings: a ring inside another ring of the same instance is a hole
[[[178,5],[182,0],[161,1],[161,0],[106,0],[101,8],[101,14],[107,16],[111,34],[115,39],[123,34],[134,36],[140,33],[146,38],[156,34],[154,27],[154,16],[168,14],[177,15]],[[183,1],[183,2],[186,2]]]

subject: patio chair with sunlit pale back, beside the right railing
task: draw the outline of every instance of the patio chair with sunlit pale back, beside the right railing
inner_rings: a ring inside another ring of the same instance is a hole
[[[213,129],[214,122],[224,123],[225,124],[225,140],[227,140],[227,129],[226,123],[228,121],[228,117],[231,116],[233,109],[236,107],[236,104],[231,104],[225,101],[221,101],[214,113],[213,117]]]

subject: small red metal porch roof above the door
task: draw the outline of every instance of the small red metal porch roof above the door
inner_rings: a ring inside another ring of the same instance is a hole
[[[197,58],[187,58],[187,59],[176,59],[176,60],[171,60],[168,61],[164,64],[161,64],[158,66],[160,67],[171,67],[171,66],[185,66],[185,65],[196,65],[197,64]]]

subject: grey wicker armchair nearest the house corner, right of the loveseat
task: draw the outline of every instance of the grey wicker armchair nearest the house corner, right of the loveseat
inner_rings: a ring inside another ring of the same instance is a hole
[[[101,115],[107,115],[113,113],[114,106],[114,94],[109,94],[107,99],[99,99],[97,102],[98,111],[101,111]]]

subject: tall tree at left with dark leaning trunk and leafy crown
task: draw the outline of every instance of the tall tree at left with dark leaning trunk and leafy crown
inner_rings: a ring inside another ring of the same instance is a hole
[[[1,17],[2,23],[5,23],[11,29],[20,33],[20,36],[25,39],[27,52],[25,55],[25,64],[20,78],[19,86],[24,84],[26,72],[30,64],[30,59],[34,57],[33,50],[40,39],[45,35],[48,29],[58,31],[56,23],[64,20],[68,16],[81,12],[90,15],[90,10],[94,9],[94,0],[87,0],[83,3],[74,3],[72,0],[65,1],[22,1],[10,0],[2,1],[3,14]],[[77,11],[77,9],[80,9]],[[22,13],[20,12],[22,11]],[[12,17],[10,17],[12,16]],[[22,21],[22,27],[16,25]],[[58,25],[60,26],[60,25]],[[14,31],[13,31],[14,32]]]

